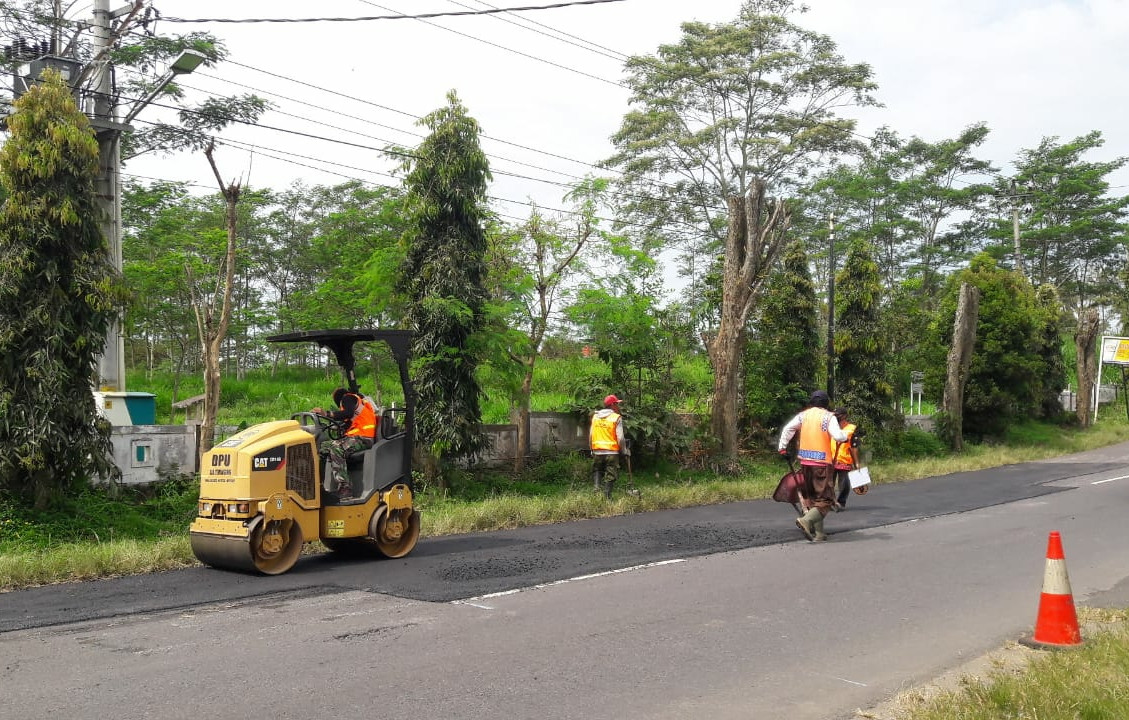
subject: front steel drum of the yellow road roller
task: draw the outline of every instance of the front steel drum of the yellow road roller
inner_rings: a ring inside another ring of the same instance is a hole
[[[294,568],[301,555],[301,528],[291,519],[253,521],[247,537],[190,533],[192,553],[212,568],[277,576]]]

